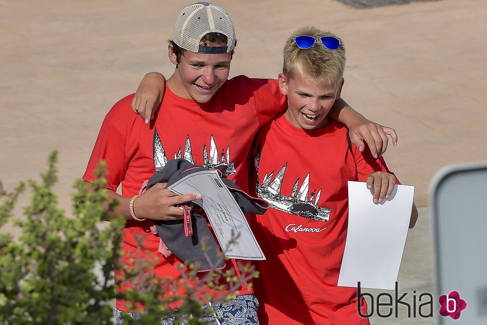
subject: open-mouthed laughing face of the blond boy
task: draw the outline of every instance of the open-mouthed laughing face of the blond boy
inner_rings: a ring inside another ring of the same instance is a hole
[[[288,96],[288,109],[284,113],[295,127],[305,130],[317,129],[330,122],[328,113],[335,100],[340,98],[343,79],[340,85],[316,85],[311,79],[296,73],[286,77],[279,75],[281,92]]]

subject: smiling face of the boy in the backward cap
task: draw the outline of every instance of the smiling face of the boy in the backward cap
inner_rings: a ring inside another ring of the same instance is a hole
[[[172,49],[169,59],[177,68],[168,80],[168,87],[177,96],[206,103],[228,79],[230,74],[230,53],[201,54],[185,51],[180,62]]]

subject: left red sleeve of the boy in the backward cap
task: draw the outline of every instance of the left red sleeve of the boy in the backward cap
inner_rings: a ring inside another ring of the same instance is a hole
[[[118,101],[106,114],[98,133],[83,179],[93,181],[99,161],[106,164],[107,188],[116,191],[127,170],[128,158],[125,151],[129,125],[137,117],[130,107],[133,95]]]

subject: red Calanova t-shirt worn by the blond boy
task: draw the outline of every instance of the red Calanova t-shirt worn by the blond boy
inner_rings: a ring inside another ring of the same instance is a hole
[[[257,263],[261,273],[254,280],[260,324],[369,324],[357,313],[357,289],[336,284],[347,235],[347,181],[366,181],[372,172],[389,172],[384,160],[373,158],[369,151],[362,155],[353,144],[352,154],[347,129],[338,122],[305,131],[282,114],[259,132],[254,156],[259,148],[256,165],[261,189],[257,186],[256,191],[271,204],[264,216],[252,220],[257,222],[253,230],[267,257]],[[285,164],[280,191],[275,191],[279,182],[269,190]],[[278,210],[293,200],[289,198],[296,180],[299,194],[308,173],[304,200],[311,203],[298,203],[293,209],[316,215],[316,207],[330,208],[328,221]],[[367,314],[365,300],[360,304],[362,314]]]

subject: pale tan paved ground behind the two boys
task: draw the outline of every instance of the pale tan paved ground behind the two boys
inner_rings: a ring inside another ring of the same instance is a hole
[[[191,2],[0,0],[4,187],[38,179],[56,148],[57,189],[69,207],[71,185],[85,170],[107,110],[134,92],[144,73],[172,72],[166,40],[177,13]],[[348,60],[342,95],[397,130],[399,146],[388,149],[386,160],[402,183],[416,186],[415,200],[423,207],[408,237],[399,291],[431,290],[431,178],[445,165],[487,159],[487,1],[371,9],[333,0],[223,5],[239,40],[232,75],[276,77],[283,42],[300,25],[343,38]]]

